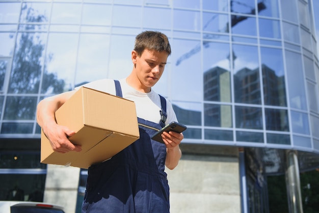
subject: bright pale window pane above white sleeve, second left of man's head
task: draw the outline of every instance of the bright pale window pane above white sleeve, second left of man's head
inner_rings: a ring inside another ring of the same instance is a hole
[[[81,34],[77,50],[75,85],[106,78],[109,52],[110,35]]]

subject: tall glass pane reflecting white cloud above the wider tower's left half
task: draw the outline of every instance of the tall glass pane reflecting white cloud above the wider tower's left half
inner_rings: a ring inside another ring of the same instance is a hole
[[[256,46],[233,45],[235,102],[260,104],[260,77]]]

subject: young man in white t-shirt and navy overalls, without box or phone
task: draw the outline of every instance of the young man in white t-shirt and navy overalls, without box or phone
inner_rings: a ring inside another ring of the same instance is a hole
[[[169,187],[164,169],[165,166],[169,169],[177,166],[183,135],[164,132],[165,144],[150,137],[156,132],[154,128],[160,129],[177,121],[171,103],[165,98],[163,101],[163,97],[151,89],[161,78],[170,54],[166,35],[142,32],[136,37],[131,52],[133,69],[128,77],[117,83],[112,79],[101,79],[85,85],[134,101],[140,139],[108,161],[89,168],[82,212],[169,212]],[[81,151],[81,147],[68,140],[75,132],[55,121],[55,111],[74,92],[43,99],[37,108],[39,125],[52,149],[61,153]]]

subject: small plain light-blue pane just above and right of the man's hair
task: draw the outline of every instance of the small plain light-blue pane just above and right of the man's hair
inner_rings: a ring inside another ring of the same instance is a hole
[[[174,30],[200,31],[200,12],[187,10],[174,10]]]

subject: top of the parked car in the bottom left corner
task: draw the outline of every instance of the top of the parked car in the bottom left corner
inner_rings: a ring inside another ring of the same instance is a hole
[[[0,201],[2,213],[65,213],[62,206],[27,201]]]

